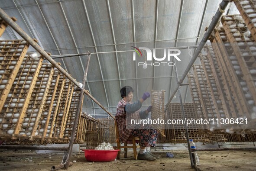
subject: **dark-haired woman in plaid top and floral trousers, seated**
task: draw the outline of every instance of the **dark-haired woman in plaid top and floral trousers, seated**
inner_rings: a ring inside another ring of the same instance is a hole
[[[156,129],[150,129],[149,126],[131,125],[131,119],[146,119],[149,117],[149,112],[152,106],[147,110],[140,111],[143,101],[150,97],[148,92],[136,102],[133,100],[133,88],[125,86],[121,88],[120,94],[122,100],[117,105],[117,127],[120,134],[120,141],[125,142],[130,136],[140,136],[140,147],[138,158],[140,160],[156,160],[159,156],[153,155],[150,152],[150,146],[156,146],[157,134]]]

